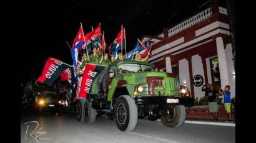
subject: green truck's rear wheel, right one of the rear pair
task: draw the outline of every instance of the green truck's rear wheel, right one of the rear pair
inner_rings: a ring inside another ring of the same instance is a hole
[[[92,108],[92,104],[88,100],[84,101],[84,121],[92,124],[96,120],[97,111]]]

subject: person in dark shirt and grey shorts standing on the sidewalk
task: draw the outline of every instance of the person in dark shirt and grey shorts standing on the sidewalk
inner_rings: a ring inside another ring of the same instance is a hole
[[[214,90],[214,86],[210,85],[210,91],[208,93],[207,97],[207,101],[209,104],[209,111],[210,113],[212,113],[212,116],[214,117],[214,121],[219,121],[218,119],[218,93],[216,90]]]

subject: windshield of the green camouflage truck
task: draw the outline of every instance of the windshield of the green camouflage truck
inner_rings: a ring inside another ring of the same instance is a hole
[[[119,65],[118,69],[121,69],[124,73],[133,72],[144,72],[144,71],[154,71],[154,68],[149,65],[135,64],[135,63],[124,63]]]

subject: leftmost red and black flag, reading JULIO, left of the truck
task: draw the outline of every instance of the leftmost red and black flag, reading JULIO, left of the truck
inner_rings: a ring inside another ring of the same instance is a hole
[[[62,63],[60,60],[49,57],[44,65],[42,75],[39,76],[37,81],[48,86],[52,86],[54,81],[56,81],[61,73],[67,68],[69,68],[69,66]]]

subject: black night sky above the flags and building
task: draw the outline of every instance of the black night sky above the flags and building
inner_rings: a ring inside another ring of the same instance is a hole
[[[48,57],[72,65],[66,41],[72,45],[82,22],[84,33],[97,27],[105,33],[107,47],[121,29],[126,27],[127,52],[137,38],[157,35],[164,27],[172,27],[204,9],[209,0],[138,0],[138,1],[59,1],[45,0],[24,7],[24,40],[22,47],[22,81],[41,75]]]

